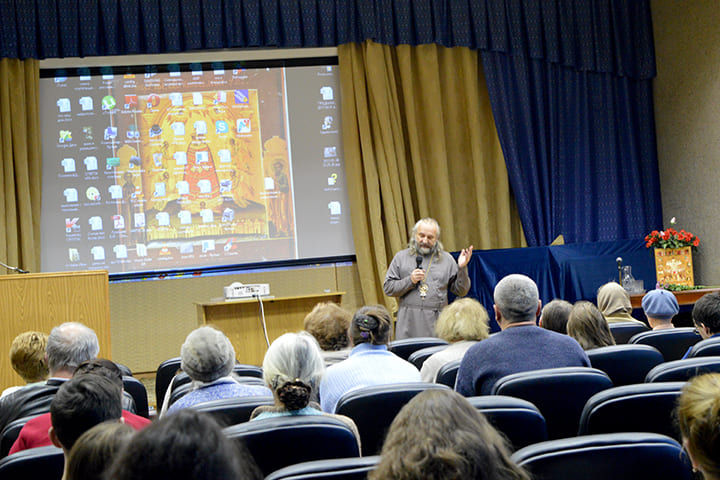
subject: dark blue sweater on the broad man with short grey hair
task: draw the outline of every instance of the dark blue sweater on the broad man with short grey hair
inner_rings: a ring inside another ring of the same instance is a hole
[[[511,373],[589,366],[580,344],[567,335],[534,325],[510,327],[470,347],[455,390],[466,397],[489,395],[495,382]]]

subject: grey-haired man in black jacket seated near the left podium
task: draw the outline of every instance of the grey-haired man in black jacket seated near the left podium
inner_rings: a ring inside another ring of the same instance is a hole
[[[99,352],[97,335],[85,325],[68,322],[53,328],[45,347],[50,378],[0,399],[0,432],[15,419],[50,411],[60,385],[72,377],[78,365],[96,358]]]

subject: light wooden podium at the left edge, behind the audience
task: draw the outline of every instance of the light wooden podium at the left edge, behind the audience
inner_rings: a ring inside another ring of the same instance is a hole
[[[10,366],[10,345],[28,330],[46,334],[63,322],[95,330],[100,356],[110,355],[110,296],[105,270],[0,275],[0,386],[23,385]]]

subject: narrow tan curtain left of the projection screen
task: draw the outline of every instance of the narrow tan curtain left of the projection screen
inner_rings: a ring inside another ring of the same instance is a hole
[[[0,261],[33,272],[40,270],[39,81],[37,60],[0,59]]]

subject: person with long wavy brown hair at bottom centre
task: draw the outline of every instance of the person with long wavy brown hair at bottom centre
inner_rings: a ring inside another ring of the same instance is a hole
[[[416,395],[397,414],[369,480],[529,480],[499,434],[462,396]]]

